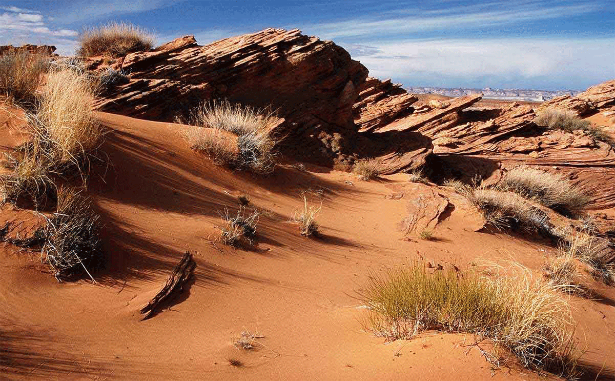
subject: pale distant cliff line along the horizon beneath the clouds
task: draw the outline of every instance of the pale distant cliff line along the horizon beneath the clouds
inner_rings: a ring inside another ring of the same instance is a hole
[[[447,89],[445,87],[404,87],[412,94],[438,94],[446,95],[447,97],[461,97],[469,94],[483,94],[484,98],[507,99],[507,100],[534,100],[542,101],[551,98],[560,97],[561,95],[576,95],[579,92],[573,90],[522,90],[522,89]]]

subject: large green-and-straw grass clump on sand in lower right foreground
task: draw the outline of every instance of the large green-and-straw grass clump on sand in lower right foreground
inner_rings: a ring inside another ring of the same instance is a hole
[[[469,332],[491,339],[524,366],[573,371],[569,307],[530,271],[483,278],[454,271],[431,275],[414,266],[371,276],[359,294],[370,308],[367,329],[388,339],[410,339],[432,329]]]

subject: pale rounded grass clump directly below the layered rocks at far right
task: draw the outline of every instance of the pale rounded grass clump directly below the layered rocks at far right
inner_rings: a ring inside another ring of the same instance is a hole
[[[499,188],[513,191],[523,198],[532,199],[566,215],[578,214],[590,203],[590,198],[563,175],[529,166],[518,166],[509,170],[502,178]]]

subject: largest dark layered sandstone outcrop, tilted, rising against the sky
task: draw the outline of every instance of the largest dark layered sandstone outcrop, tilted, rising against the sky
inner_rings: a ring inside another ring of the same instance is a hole
[[[276,110],[284,153],[303,161],[347,166],[355,158],[382,157],[389,173],[418,167],[431,153],[421,134],[361,134],[354,115],[370,110],[370,102],[402,94],[389,119],[365,119],[377,125],[407,113],[416,97],[390,81],[367,79],[367,68],[346,50],[299,30],[270,28],[206,46],[184,36],[111,66],[129,73],[130,81],[101,98],[101,111],[172,121],[204,100],[226,98]]]

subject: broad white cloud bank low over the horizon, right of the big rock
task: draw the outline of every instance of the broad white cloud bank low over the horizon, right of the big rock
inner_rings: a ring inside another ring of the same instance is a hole
[[[410,86],[534,83],[582,88],[612,79],[613,46],[614,38],[506,38],[385,41],[349,50],[370,69],[370,75],[415,81],[406,83]]]

